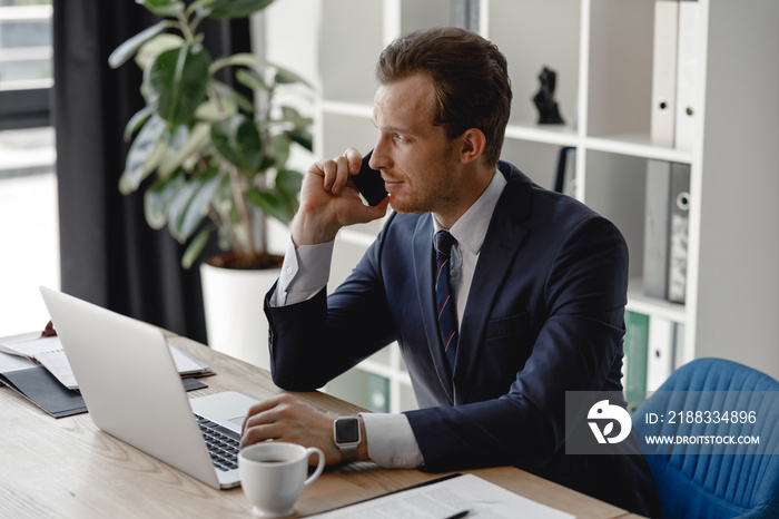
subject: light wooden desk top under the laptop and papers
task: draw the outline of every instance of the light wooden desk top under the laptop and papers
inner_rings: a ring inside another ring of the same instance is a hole
[[[239,391],[262,400],[280,392],[269,374],[185,337],[171,343],[210,364],[207,389]],[[139,374],[140,379],[140,374]],[[338,413],[358,410],[324,393],[297,393],[312,405]],[[9,388],[0,388],[0,517],[214,517],[246,518],[241,490],[215,490],[101,432],[89,414],[53,419]],[[580,518],[628,512],[514,468],[469,471],[538,502]],[[441,477],[417,470],[383,470],[373,463],[328,469],[300,496],[300,516],[381,496]]]

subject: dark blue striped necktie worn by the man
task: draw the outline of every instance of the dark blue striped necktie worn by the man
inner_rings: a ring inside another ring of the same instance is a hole
[[[448,359],[448,365],[454,372],[454,361],[457,355],[457,313],[450,287],[450,260],[452,245],[456,241],[446,231],[435,233],[435,306],[438,315],[438,332]]]

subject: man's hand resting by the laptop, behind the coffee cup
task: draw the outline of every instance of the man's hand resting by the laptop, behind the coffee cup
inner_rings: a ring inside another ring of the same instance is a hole
[[[265,440],[286,441],[304,447],[318,447],[325,462],[341,462],[341,451],[333,440],[333,421],[326,414],[303,403],[292,394],[279,394],[249,409],[244,420],[240,447]]]

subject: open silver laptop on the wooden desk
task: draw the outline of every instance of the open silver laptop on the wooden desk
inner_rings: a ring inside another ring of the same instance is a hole
[[[161,330],[45,286],[40,291],[99,429],[214,488],[240,484],[235,439],[256,400],[236,392],[190,400]],[[220,439],[207,441],[201,424],[210,431],[206,437]],[[211,456],[207,443],[223,452]]]

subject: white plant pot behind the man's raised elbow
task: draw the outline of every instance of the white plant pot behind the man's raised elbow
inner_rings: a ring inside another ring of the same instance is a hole
[[[208,345],[214,350],[270,369],[265,294],[280,268],[241,271],[203,263],[200,278]]]

